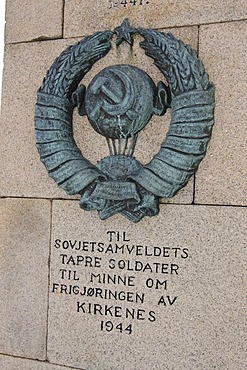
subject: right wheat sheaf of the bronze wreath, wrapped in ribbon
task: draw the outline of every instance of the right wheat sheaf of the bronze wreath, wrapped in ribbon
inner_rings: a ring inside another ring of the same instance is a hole
[[[214,86],[189,46],[170,33],[137,31],[144,37],[140,46],[169,84],[172,112],[159,152],[131,178],[159,197],[172,197],[205,156],[214,124]]]

